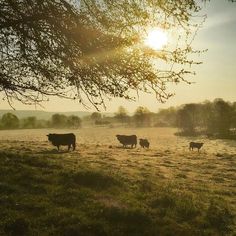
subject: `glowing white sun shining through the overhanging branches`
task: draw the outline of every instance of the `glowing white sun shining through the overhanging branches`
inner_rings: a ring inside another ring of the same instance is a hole
[[[144,44],[154,50],[161,50],[168,42],[166,31],[160,28],[148,31]]]

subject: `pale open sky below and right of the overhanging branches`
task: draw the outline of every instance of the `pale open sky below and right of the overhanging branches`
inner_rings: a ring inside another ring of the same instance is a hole
[[[204,12],[207,19],[197,34],[193,43],[195,49],[208,49],[199,56],[203,64],[194,70],[196,75],[189,80],[191,85],[180,83],[170,85],[168,90],[175,93],[164,104],[159,103],[154,95],[140,94],[136,102],[124,99],[113,99],[106,102],[106,110],[115,112],[119,106],[124,106],[129,113],[133,113],[138,106],[145,106],[150,111],[157,112],[161,108],[178,106],[185,103],[203,102],[223,98],[226,101],[236,101],[236,3],[227,0],[212,0],[206,3]],[[44,111],[95,111],[85,109],[76,101],[50,98],[43,107],[14,105],[16,110],[44,110]],[[0,109],[11,109],[1,101]]]

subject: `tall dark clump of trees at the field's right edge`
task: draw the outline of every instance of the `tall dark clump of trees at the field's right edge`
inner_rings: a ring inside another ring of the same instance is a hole
[[[236,137],[236,102],[223,99],[200,104],[185,104],[176,112],[176,126],[179,134],[228,138]]]

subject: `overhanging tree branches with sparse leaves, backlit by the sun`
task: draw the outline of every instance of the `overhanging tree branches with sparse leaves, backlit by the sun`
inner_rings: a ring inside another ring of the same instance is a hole
[[[196,0],[1,0],[0,91],[10,105],[57,95],[98,108],[104,97],[134,99],[133,90],[154,92],[165,101],[172,96],[166,85],[193,73],[184,65],[199,64],[190,59],[199,53],[191,47],[204,21],[196,22],[199,5]],[[143,46],[149,27],[175,32],[178,46],[159,51]]]

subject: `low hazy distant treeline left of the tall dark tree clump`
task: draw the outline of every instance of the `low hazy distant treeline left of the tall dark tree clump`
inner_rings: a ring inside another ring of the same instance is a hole
[[[100,112],[93,112],[88,116],[80,118],[75,115],[66,116],[63,114],[54,114],[49,120],[38,120],[35,116],[19,119],[12,113],[5,113],[0,119],[0,129],[35,129],[35,128],[79,128],[84,126],[135,126],[135,127],[152,127],[152,126],[173,126],[174,122],[171,116],[173,110],[163,110],[160,113],[149,111],[146,107],[138,107],[130,115],[127,110],[120,106],[113,116],[106,116]],[[165,119],[158,119],[158,117]],[[163,121],[165,120],[165,121]]]

